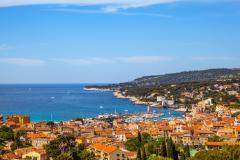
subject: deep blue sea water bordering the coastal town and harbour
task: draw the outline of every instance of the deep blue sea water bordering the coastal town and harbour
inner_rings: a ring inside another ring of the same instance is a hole
[[[0,114],[24,114],[32,121],[65,121],[99,114],[145,112],[146,106],[117,99],[112,92],[85,91],[85,85],[0,85]],[[100,107],[102,106],[102,107]],[[158,110],[166,116],[169,110]],[[182,113],[171,111],[174,116]],[[52,116],[51,116],[52,115]],[[166,117],[165,116],[165,117]]]

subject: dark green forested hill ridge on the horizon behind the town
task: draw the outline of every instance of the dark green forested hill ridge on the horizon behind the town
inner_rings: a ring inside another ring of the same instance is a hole
[[[208,69],[164,75],[145,76],[133,81],[120,83],[122,87],[147,87],[161,84],[176,84],[193,81],[209,81],[240,78],[240,69]]]

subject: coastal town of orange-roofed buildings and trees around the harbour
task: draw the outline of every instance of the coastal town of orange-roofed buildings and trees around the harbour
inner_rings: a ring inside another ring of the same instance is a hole
[[[137,97],[160,106],[178,104],[178,109],[185,109],[184,116],[178,118],[133,118],[156,114],[151,110],[66,122],[31,122],[29,116],[1,116],[1,158],[183,160],[194,159],[201,151],[239,146],[239,80],[195,84],[167,85]],[[178,93],[174,92],[176,88]],[[163,92],[158,93],[160,90]],[[123,92],[133,96],[129,91]]]

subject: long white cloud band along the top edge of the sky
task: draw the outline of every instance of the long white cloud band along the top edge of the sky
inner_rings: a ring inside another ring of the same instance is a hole
[[[239,2],[239,0],[0,0],[0,7],[22,5],[100,5],[104,12],[116,12],[119,9],[138,8],[175,2]]]

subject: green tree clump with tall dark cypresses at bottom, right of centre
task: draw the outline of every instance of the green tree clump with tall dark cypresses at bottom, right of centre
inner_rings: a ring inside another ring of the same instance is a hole
[[[138,134],[125,144],[131,151],[137,151],[137,160],[186,160],[190,157],[190,147],[181,147],[173,143],[171,138],[154,140],[147,133]]]

